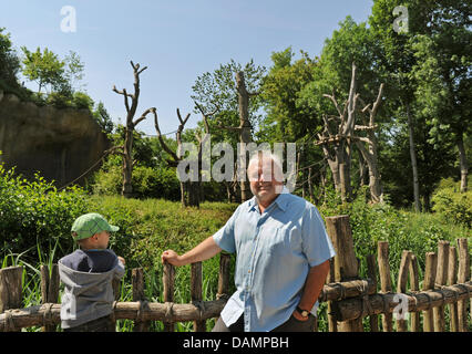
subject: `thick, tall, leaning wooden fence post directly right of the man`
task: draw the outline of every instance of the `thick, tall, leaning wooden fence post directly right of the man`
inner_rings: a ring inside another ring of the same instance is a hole
[[[352,231],[349,216],[327,217],[326,229],[336,250],[335,280],[345,281],[358,278],[358,261],[353,251]],[[339,332],[362,332],[362,319],[338,324]]]

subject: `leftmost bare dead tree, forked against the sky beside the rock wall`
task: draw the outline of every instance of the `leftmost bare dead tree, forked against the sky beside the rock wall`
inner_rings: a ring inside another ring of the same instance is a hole
[[[117,90],[113,85],[113,91],[120,95],[123,95],[124,106],[126,107],[126,125],[124,127],[124,144],[121,146],[113,146],[107,150],[110,154],[117,154],[122,156],[122,174],[123,174],[123,186],[122,186],[122,196],[125,198],[131,198],[133,196],[132,187],[132,177],[133,177],[133,133],[137,124],[146,118],[146,116],[155,112],[155,107],[147,108],[143,114],[134,119],[136,114],[137,103],[140,100],[140,74],[147,69],[144,66],[140,69],[140,64],[134,64],[133,61],[130,62],[133,67],[134,75],[134,93],[127,93],[126,88]],[[130,102],[131,101],[131,102]]]

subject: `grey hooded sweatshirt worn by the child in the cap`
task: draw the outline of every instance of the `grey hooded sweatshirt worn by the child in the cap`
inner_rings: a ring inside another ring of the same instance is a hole
[[[110,264],[107,271],[92,272],[93,261],[96,263],[99,259],[104,259]],[[88,261],[91,264],[89,271],[75,270],[83,269],[76,266],[86,264]],[[59,275],[65,285],[61,305],[63,329],[81,325],[112,312],[114,301],[112,281],[124,274],[124,266],[112,250],[78,250],[60,259],[58,264]]]

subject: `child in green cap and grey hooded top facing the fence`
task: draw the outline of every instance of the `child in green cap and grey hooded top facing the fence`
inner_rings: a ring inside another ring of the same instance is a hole
[[[72,225],[72,237],[80,249],[59,260],[59,274],[64,283],[61,326],[64,332],[114,332],[113,279],[124,274],[124,259],[106,249],[109,225],[96,212],[79,217]]]

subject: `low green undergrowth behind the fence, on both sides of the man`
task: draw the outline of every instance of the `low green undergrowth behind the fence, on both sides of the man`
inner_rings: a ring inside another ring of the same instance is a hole
[[[179,202],[164,199],[86,195],[78,187],[57,191],[40,176],[34,181],[27,181],[3,168],[0,168],[0,260],[2,267],[25,266],[24,306],[40,303],[39,266],[55,263],[75,247],[70,237],[70,226],[83,212],[100,212],[120,227],[120,231],[111,238],[110,247],[126,259],[121,301],[131,301],[131,269],[142,267],[147,299],[163,302],[161,253],[166,249],[177,252],[189,250],[223,227],[237,207],[236,204],[203,202],[199,208],[182,208]],[[456,195],[460,196],[459,192]],[[324,217],[350,216],[355,249],[361,260],[361,277],[367,277],[365,257],[376,252],[379,240],[390,243],[394,283],[402,250],[411,250],[417,256],[421,272],[425,252],[434,251],[439,240],[449,240],[453,244],[456,238],[470,237],[469,227],[451,225],[439,212],[415,214],[398,210],[388,204],[368,205],[366,195],[359,195],[353,202],[345,206],[337,205],[336,197],[329,200],[330,204],[319,206]],[[472,244],[470,247],[472,250]],[[215,299],[218,261],[216,257],[203,263],[204,300]],[[189,277],[189,266],[176,269],[176,302],[191,301]],[[153,330],[161,330],[162,324],[154,325]],[[182,323],[177,330],[189,331],[191,325]],[[207,325],[211,329],[213,323],[208,321]],[[327,320],[321,314],[320,330],[326,326]],[[120,321],[120,329],[130,331],[132,321]]]

